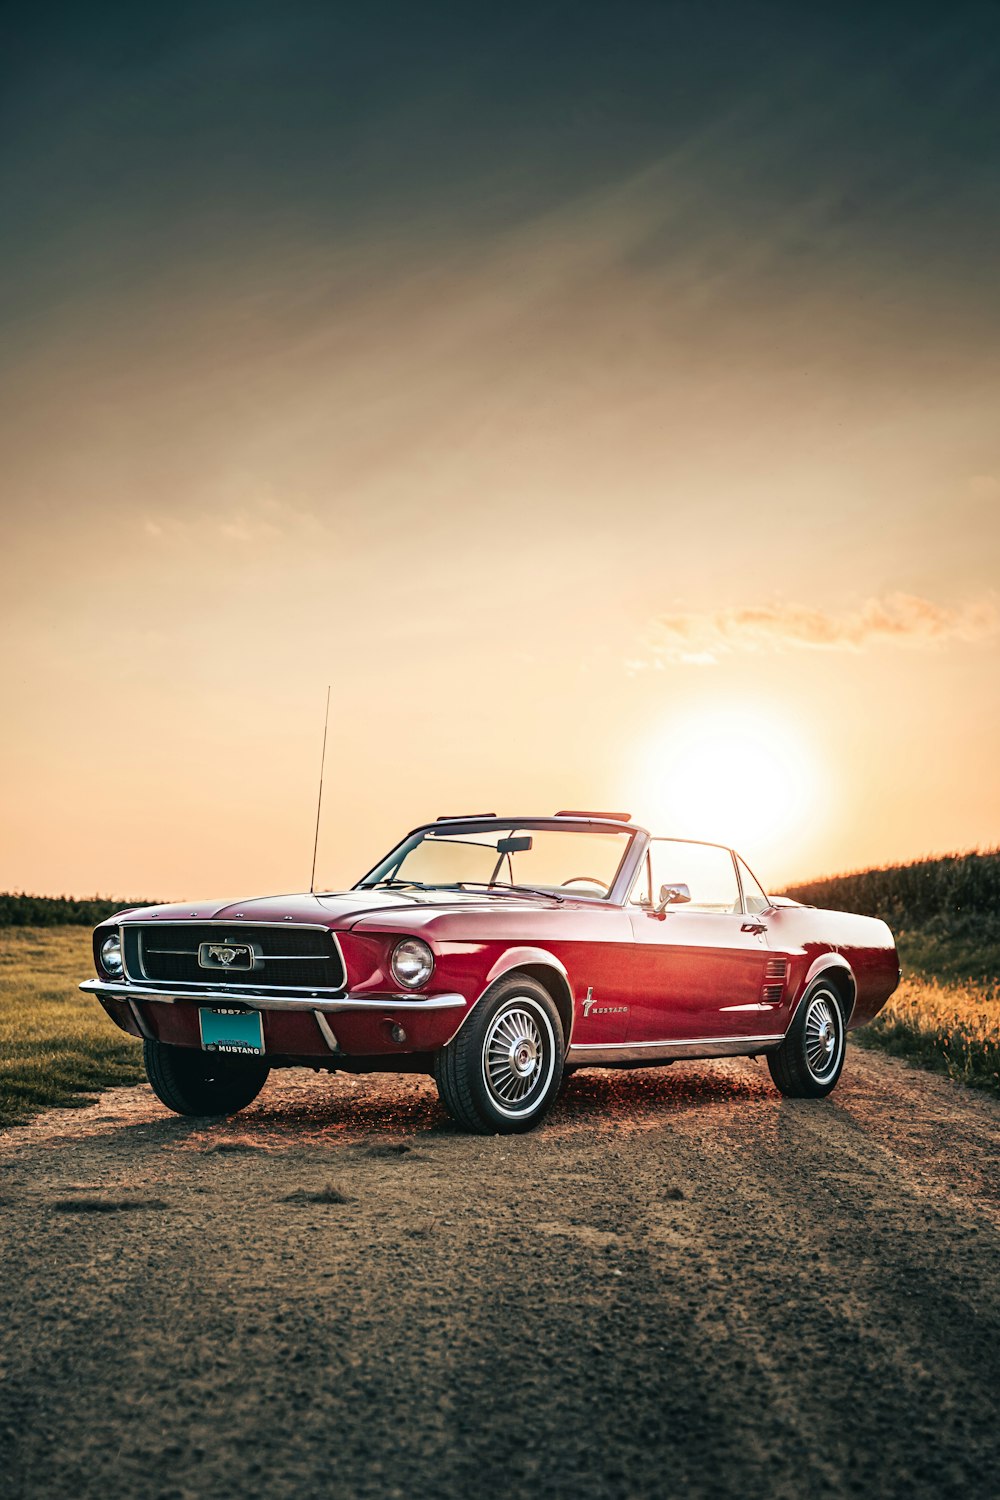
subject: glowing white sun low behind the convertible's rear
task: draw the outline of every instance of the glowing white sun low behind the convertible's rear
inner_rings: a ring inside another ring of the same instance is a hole
[[[795,724],[757,705],[673,720],[643,747],[637,771],[636,802],[655,834],[783,862],[807,828],[816,832],[820,758]]]

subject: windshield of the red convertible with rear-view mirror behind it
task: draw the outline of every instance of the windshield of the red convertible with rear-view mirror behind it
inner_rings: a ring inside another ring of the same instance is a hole
[[[448,824],[411,834],[361,885],[541,891],[606,898],[631,834],[531,824]]]

